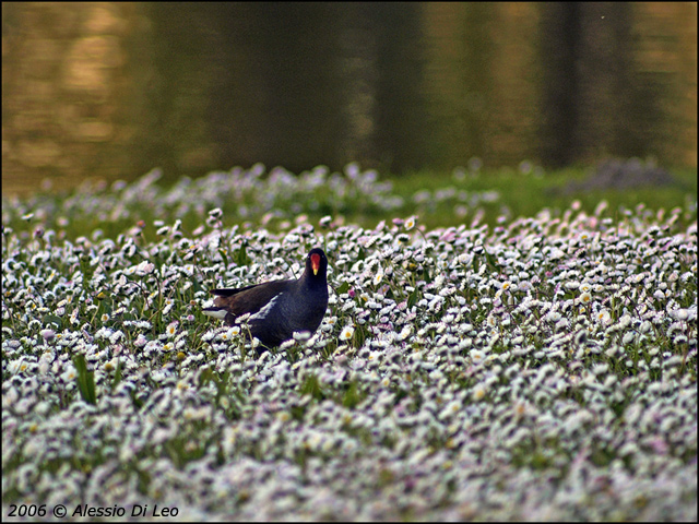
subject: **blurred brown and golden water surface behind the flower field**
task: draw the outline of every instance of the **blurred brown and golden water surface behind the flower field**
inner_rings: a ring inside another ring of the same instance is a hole
[[[697,165],[697,5],[2,4],[3,191],[261,162]]]

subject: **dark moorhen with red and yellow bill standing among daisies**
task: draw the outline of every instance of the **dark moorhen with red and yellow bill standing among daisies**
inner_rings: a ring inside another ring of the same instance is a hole
[[[328,259],[320,248],[306,257],[306,270],[297,281],[272,281],[239,289],[212,289],[213,308],[204,314],[234,325],[236,318],[250,313],[250,334],[263,346],[274,347],[293,338],[295,331],[313,333],[328,308]]]

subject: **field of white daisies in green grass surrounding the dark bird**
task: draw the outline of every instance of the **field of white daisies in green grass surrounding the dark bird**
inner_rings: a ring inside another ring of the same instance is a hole
[[[156,178],[3,199],[3,519],[697,520],[696,201],[426,228],[356,166]],[[313,247],[317,333],[202,314]]]

